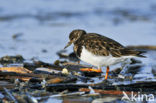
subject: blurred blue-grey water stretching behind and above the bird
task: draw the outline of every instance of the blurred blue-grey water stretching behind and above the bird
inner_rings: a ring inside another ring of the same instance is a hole
[[[53,62],[73,29],[155,45],[156,0],[0,0],[0,57]]]

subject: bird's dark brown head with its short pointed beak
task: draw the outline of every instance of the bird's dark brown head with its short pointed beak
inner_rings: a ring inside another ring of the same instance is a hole
[[[69,42],[64,47],[64,49],[69,47],[72,43],[75,43],[78,39],[80,39],[85,34],[86,34],[86,31],[84,31],[84,30],[80,30],[80,29],[73,30],[69,34]]]

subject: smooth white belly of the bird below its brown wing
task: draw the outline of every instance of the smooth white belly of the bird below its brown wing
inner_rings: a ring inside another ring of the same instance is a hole
[[[129,57],[126,57],[129,58]],[[83,47],[80,59],[86,63],[92,64],[97,67],[101,66],[110,66],[113,64],[117,64],[122,62],[126,59],[125,57],[113,57],[112,55],[109,56],[97,56],[93,53],[89,52],[85,47]]]

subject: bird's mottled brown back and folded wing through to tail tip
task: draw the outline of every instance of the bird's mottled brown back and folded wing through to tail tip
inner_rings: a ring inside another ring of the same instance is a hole
[[[79,43],[82,43],[81,45],[85,46],[88,51],[92,52],[95,55],[112,55],[113,57],[144,57],[143,55],[141,55],[142,52],[126,48],[117,41],[96,33],[89,33],[85,35]],[[82,50],[82,48],[79,50]]]

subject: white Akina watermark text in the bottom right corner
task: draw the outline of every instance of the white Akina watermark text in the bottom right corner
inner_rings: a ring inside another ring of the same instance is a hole
[[[154,95],[153,94],[141,94],[140,92],[134,93],[133,91],[128,96],[126,92],[123,91],[123,97],[121,100],[127,100],[127,101],[154,101]]]

